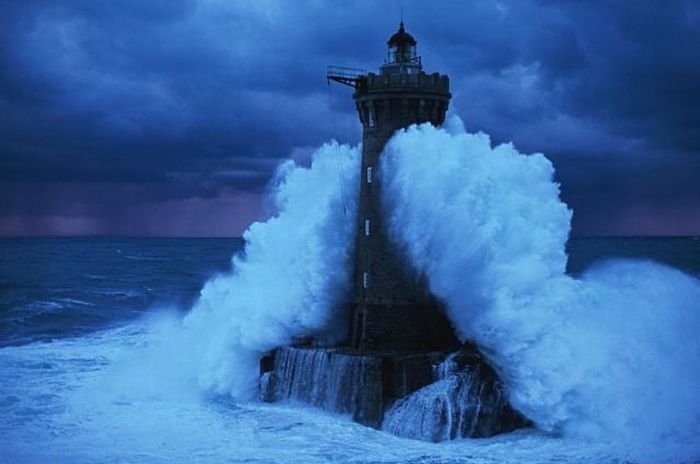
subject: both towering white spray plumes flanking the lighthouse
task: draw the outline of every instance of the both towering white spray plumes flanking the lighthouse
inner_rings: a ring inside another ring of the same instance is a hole
[[[278,213],[248,229],[234,270],[206,284],[177,334],[166,331],[182,347],[178,375],[246,400],[264,352],[342,336],[358,172],[358,150],[336,144],[310,168],[281,166]],[[642,261],[566,275],[572,213],[553,173],[543,155],[492,147],[456,118],[412,126],[382,156],[390,234],[538,428],[626,450],[698,448],[700,282]],[[172,340],[154,356],[172,356]]]

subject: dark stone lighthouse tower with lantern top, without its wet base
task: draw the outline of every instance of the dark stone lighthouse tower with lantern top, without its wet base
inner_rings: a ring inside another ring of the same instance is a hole
[[[426,74],[416,40],[403,22],[387,42],[378,74],[329,67],[328,79],[355,89],[363,126],[362,175],[357,218],[354,294],[349,343],[362,352],[424,351],[456,344],[452,329],[425,282],[390,240],[380,198],[380,155],[399,129],[443,123],[450,101],[449,78]]]

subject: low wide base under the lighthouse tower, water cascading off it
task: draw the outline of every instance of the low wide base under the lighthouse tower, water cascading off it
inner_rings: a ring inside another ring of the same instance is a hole
[[[284,347],[262,370],[263,401],[301,401],[402,437],[437,442],[527,425],[496,373],[468,346],[447,357]]]

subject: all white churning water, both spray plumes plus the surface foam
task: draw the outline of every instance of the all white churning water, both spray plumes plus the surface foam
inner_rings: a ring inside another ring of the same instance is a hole
[[[551,163],[455,119],[387,146],[392,236],[513,405],[563,436],[433,445],[303,408],[201,401],[202,388],[247,399],[261,353],[340,333],[358,162],[356,148],[329,144],[310,168],[285,163],[277,213],[249,228],[233,271],[206,284],[184,321],[155,315],[0,349],[0,462],[697,462],[698,280],[641,261],[567,276],[571,212]]]

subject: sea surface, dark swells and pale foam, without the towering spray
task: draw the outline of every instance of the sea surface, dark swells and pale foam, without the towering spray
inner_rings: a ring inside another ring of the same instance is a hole
[[[153,355],[241,239],[0,240],[0,463],[700,462],[694,442],[643,458],[535,429],[433,444],[299,404],[235,402],[180,385]],[[700,276],[700,240],[579,238],[568,272],[611,258]],[[171,343],[173,340],[169,340]],[[174,340],[177,343],[177,340]],[[177,367],[177,360],[167,363]]]

